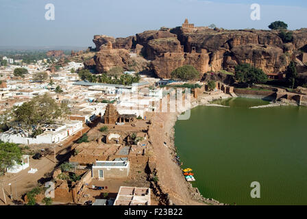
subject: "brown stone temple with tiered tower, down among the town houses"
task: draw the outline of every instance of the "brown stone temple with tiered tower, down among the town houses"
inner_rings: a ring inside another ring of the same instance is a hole
[[[134,122],[136,115],[134,114],[119,114],[116,107],[109,103],[106,107],[106,112],[104,113],[104,124],[115,124],[115,123],[132,123]]]

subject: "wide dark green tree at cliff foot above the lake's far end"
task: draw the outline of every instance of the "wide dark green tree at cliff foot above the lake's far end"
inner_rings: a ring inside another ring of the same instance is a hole
[[[243,83],[265,83],[267,82],[267,75],[260,68],[244,63],[235,66],[234,78]]]

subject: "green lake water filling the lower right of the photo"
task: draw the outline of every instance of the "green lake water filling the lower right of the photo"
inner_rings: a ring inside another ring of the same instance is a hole
[[[269,102],[227,99],[177,120],[175,146],[206,198],[236,205],[307,205],[307,107],[249,109]],[[260,198],[251,198],[251,182]]]

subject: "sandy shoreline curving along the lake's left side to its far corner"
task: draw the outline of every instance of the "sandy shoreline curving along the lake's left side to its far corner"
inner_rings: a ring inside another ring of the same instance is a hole
[[[227,99],[228,94],[202,95],[191,101],[191,109],[198,105],[206,105],[214,99]],[[184,109],[182,112],[186,112]],[[197,188],[193,188],[182,175],[182,168],[175,161],[177,148],[175,147],[175,123],[182,114],[155,113],[149,130],[151,144],[153,144],[154,159],[158,175],[158,185],[164,194],[167,194],[168,205],[225,205],[212,198],[205,198]],[[166,143],[166,144],[165,144]]]

